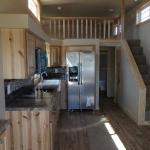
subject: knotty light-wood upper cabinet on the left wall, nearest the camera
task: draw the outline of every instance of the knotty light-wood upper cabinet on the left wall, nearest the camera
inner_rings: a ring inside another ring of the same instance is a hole
[[[25,29],[0,29],[4,79],[24,79],[35,73],[35,48],[45,42]]]

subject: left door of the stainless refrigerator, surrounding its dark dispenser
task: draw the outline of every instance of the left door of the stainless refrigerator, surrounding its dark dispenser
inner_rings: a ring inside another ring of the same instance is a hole
[[[79,66],[79,52],[67,53],[67,66],[68,67]],[[80,90],[79,90],[78,77],[79,77],[79,71],[76,77],[69,75],[69,79],[75,78],[77,80],[69,81],[68,79],[68,109],[80,109],[80,93],[79,93]]]

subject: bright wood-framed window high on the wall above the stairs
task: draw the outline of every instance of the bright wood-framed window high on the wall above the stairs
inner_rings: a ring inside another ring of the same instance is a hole
[[[136,23],[140,24],[147,20],[150,20],[150,2],[143,5],[136,14]]]

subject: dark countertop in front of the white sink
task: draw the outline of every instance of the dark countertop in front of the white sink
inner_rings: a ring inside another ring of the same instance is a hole
[[[52,98],[57,91],[33,93],[14,97],[6,104],[6,111],[55,111],[56,102]]]

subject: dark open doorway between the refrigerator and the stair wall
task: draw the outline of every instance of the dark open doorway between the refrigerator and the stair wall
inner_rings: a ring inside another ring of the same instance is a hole
[[[115,101],[115,50],[115,47],[100,47],[99,89],[101,106],[106,98]]]

